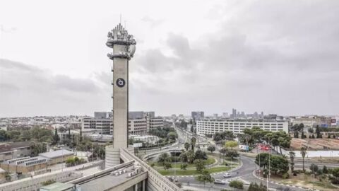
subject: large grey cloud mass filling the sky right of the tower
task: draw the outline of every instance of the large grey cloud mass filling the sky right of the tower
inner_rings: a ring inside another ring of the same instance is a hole
[[[211,113],[231,108],[338,113],[338,4],[246,1],[242,8],[220,6],[234,16],[222,21],[217,32],[204,34],[199,39],[203,46],[169,33],[166,42],[174,56],[148,50],[136,59],[141,75],[153,76],[144,83],[162,92],[148,95],[149,100],[171,95],[188,101],[180,102],[186,112],[199,105],[196,109]],[[167,108],[160,110],[169,114]]]

